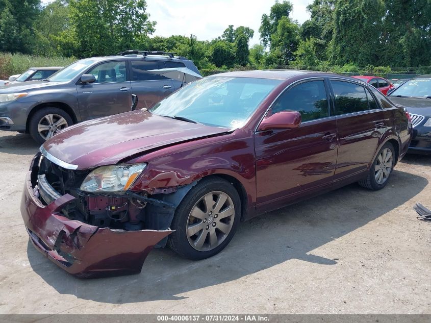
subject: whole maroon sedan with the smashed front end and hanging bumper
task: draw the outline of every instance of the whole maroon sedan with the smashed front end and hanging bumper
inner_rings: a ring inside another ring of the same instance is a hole
[[[353,182],[382,189],[411,134],[408,113],[356,79],[217,74],[46,141],[22,217],[36,248],[79,277],[140,272],[155,245],[204,259],[241,220]]]

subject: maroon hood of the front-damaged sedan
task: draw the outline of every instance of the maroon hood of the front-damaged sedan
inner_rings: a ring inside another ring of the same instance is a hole
[[[229,131],[163,117],[142,110],[98,118],[66,128],[43,144],[78,169],[116,164],[132,155]]]

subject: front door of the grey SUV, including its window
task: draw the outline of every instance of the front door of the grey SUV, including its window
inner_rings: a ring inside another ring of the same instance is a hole
[[[93,74],[96,82],[77,84],[83,120],[130,111],[132,93],[125,61],[102,63],[85,74]]]

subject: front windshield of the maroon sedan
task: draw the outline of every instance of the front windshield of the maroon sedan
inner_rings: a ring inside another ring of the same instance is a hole
[[[204,125],[241,128],[264,98],[282,81],[208,77],[190,83],[149,111]]]

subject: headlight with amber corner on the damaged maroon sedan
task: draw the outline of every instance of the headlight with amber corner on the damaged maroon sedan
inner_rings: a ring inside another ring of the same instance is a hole
[[[87,175],[80,189],[85,192],[124,192],[132,186],[146,165],[98,167]]]

